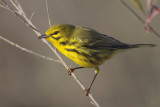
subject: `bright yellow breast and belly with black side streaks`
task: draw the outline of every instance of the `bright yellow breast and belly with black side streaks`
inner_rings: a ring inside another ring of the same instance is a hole
[[[66,57],[86,68],[96,68],[113,56],[113,51],[110,50],[95,51],[80,47],[80,44],[69,45],[68,41],[63,39],[60,39],[59,41],[53,39],[48,40]],[[73,41],[70,41],[70,43],[73,43]]]

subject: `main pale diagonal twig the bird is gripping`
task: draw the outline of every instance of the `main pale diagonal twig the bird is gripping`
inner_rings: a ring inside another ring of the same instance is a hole
[[[33,25],[33,23],[27,18],[27,16],[25,15],[23,9],[21,8],[20,4],[18,2],[17,5],[11,0],[11,2],[13,2],[13,5],[16,5],[16,9],[17,11],[13,10],[10,6],[8,6],[8,4],[2,0],[2,2],[4,3],[5,7],[8,8],[11,12],[13,12],[16,16],[18,16],[28,27],[32,28],[32,30],[38,35],[40,36],[40,32],[36,29],[36,27]],[[6,9],[5,8],[5,9]],[[8,10],[7,9],[7,10]],[[64,60],[61,58],[61,56],[57,53],[57,51],[47,42],[47,40],[42,39],[43,42],[56,54],[56,56],[58,57],[58,59],[60,60],[60,62],[62,63],[62,65],[68,69],[69,67],[67,66],[67,64],[64,62]],[[80,80],[77,78],[77,76],[75,76],[74,73],[71,74],[72,77],[75,79],[75,81],[80,85],[80,87],[84,90],[85,87],[84,85],[80,82]],[[91,95],[91,93],[89,93],[89,98],[91,99],[91,101],[94,103],[94,105],[96,107],[100,107],[100,105],[98,104],[98,102],[95,100],[95,98]]]

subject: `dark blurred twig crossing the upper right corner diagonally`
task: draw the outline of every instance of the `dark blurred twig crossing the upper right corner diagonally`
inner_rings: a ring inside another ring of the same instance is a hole
[[[122,3],[126,8],[128,8],[128,10],[130,10],[130,11],[136,16],[136,18],[137,18],[142,24],[145,25],[146,22],[145,22],[131,7],[129,7],[129,5],[128,5],[125,1],[123,1],[123,0],[120,0],[120,1],[121,1],[121,3]],[[148,27],[149,27],[149,29],[150,29],[157,37],[160,38],[160,34],[159,34],[156,30],[154,30],[154,28],[153,28],[152,26],[148,25]]]

